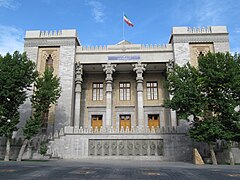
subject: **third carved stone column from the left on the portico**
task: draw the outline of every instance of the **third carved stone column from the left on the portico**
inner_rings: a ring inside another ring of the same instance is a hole
[[[136,71],[137,77],[137,122],[139,127],[145,126],[144,112],[143,112],[143,72],[145,71],[146,64],[133,64],[133,71]]]

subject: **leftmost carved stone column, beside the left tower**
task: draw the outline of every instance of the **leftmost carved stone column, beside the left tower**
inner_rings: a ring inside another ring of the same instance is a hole
[[[75,114],[74,114],[74,127],[79,128],[80,112],[81,112],[81,92],[82,92],[82,74],[83,67],[77,62],[75,64]]]

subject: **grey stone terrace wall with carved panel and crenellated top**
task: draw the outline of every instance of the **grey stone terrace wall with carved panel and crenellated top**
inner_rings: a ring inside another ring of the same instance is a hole
[[[51,138],[51,137],[50,137]],[[107,153],[108,152],[108,153]],[[192,143],[186,129],[124,130],[65,127],[50,140],[48,154],[63,159],[137,158],[191,161]]]

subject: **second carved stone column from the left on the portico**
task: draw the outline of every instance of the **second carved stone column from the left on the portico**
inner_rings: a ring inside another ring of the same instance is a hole
[[[112,74],[115,71],[116,64],[107,63],[102,65],[103,71],[106,73],[106,123],[105,127],[110,128],[112,122]]]

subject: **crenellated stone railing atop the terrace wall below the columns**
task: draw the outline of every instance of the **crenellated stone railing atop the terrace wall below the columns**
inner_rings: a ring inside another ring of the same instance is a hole
[[[101,127],[100,129],[92,127],[80,127],[75,128],[73,126],[65,126],[64,128],[61,128],[60,131],[56,131],[54,135],[51,133],[48,136],[48,139],[59,138],[60,136],[74,134],[74,135],[91,135],[91,134],[171,134],[171,133],[186,133],[187,128],[185,127],[167,127],[167,128],[160,128],[160,127],[146,127],[146,128],[140,128],[140,127],[131,127],[124,129],[123,127],[121,129],[119,128],[104,128]]]

